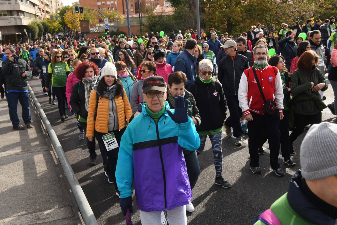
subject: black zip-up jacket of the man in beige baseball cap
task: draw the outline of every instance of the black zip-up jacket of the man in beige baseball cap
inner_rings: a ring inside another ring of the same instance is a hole
[[[247,57],[236,50],[234,60],[226,55],[218,65],[218,79],[225,95],[238,95],[242,73],[249,68]]]

